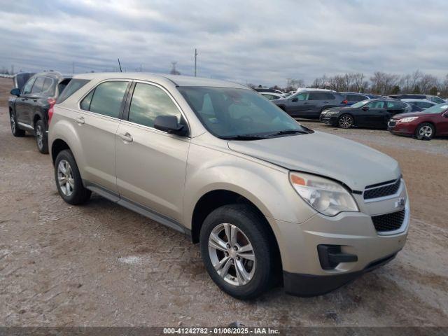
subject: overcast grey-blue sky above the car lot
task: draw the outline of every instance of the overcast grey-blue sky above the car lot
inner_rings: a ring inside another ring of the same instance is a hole
[[[36,5],[36,3],[40,3]],[[416,69],[448,73],[448,1],[6,1],[0,66],[165,72],[286,85]]]

